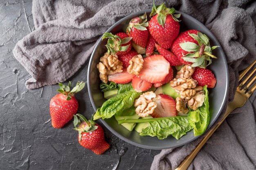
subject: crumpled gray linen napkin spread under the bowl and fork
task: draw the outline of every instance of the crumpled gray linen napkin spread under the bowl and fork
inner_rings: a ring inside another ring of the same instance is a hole
[[[162,2],[156,0],[155,3]],[[171,0],[166,5],[204,23],[220,41],[229,65],[229,101],[232,100],[238,72],[256,59],[256,2]],[[27,88],[66,81],[85,63],[95,41],[112,24],[130,13],[151,7],[151,0],[33,1],[36,30],[18,41],[13,50],[16,59],[32,76],[26,82]],[[232,112],[189,169],[256,168],[255,96],[243,108]],[[155,156],[151,169],[177,167],[202,137],[178,148],[162,150]]]

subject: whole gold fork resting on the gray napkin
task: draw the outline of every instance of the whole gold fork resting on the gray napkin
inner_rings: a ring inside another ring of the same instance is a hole
[[[254,61],[248,68],[246,68],[239,75],[239,81],[242,80],[242,78],[245,76],[245,74],[254,66],[255,63],[256,63],[256,61]],[[227,110],[226,110],[222,120],[218,124],[216,124],[216,126],[213,127],[213,129],[211,129],[208,132],[208,134],[202,139],[202,141],[198,144],[198,146],[195,147],[193,152],[189,156],[187,156],[175,170],[186,170],[189,167],[190,163],[195,158],[195,156],[198,154],[200,149],[204,146],[204,144],[208,141],[208,139],[216,131],[216,129],[218,129],[220,124],[222,124],[222,122],[224,122],[224,120],[227,118],[229,113],[231,113],[231,111],[233,111],[234,109],[236,109],[238,107],[242,107],[245,104],[245,102],[249,99],[249,97],[252,95],[252,93],[256,89],[256,83],[253,85],[253,87],[251,89],[249,89],[249,87],[252,85],[252,83],[254,83],[254,81],[256,80],[255,72],[256,72],[256,68],[254,68],[254,70],[252,70],[252,72],[238,85],[238,87],[236,89],[236,94],[235,94],[234,100],[228,104]],[[249,81],[249,79],[252,77],[252,75],[254,75],[254,77]],[[248,83],[248,81],[249,81],[249,83]]]

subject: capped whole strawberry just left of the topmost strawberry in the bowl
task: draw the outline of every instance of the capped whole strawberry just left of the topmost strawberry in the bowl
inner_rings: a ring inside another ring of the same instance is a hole
[[[132,18],[126,29],[126,33],[132,37],[132,41],[135,44],[145,48],[148,40],[147,14],[145,13],[140,17]]]

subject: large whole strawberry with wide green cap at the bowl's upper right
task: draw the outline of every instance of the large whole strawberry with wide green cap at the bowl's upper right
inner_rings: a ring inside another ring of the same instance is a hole
[[[209,38],[197,30],[189,30],[173,41],[171,51],[183,64],[192,64],[192,67],[206,67],[211,64],[212,50],[218,46],[210,46]]]

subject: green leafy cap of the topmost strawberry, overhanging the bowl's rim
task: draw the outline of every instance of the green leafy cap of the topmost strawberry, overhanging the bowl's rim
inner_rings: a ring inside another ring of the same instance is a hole
[[[174,8],[167,8],[164,3],[159,5],[159,6],[155,6],[154,0],[153,0],[153,8],[152,8],[152,12],[150,13],[150,17],[153,15],[158,14],[157,16],[157,21],[160,25],[162,25],[162,27],[164,28],[164,23],[166,20],[166,16],[168,14],[170,14],[173,17],[173,20],[180,22],[180,20],[178,20],[177,18],[180,17],[180,13],[179,14],[174,14],[176,12],[176,10]]]

